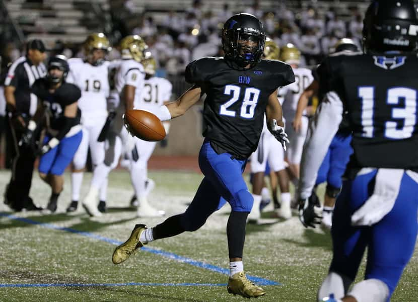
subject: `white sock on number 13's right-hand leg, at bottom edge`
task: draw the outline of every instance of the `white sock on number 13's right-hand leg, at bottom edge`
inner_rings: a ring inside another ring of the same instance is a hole
[[[389,288],[379,279],[367,279],[354,284],[347,295],[355,297],[357,302],[386,302],[389,297]]]

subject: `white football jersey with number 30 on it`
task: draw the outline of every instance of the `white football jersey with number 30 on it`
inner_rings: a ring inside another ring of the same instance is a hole
[[[293,121],[295,117],[301,94],[313,81],[312,71],[308,68],[293,68],[293,72],[295,73],[295,82],[278,91],[278,97],[282,103],[283,116],[290,121]]]

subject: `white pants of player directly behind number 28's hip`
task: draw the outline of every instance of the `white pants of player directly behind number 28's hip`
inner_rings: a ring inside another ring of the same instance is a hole
[[[261,133],[258,147],[250,159],[251,173],[264,172],[267,162],[270,171],[277,172],[286,168],[283,146],[268,131]]]

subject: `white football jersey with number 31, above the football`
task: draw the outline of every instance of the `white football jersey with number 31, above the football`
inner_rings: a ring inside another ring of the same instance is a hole
[[[170,81],[160,77],[152,77],[145,80],[141,101],[135,109],[153,111],[170,101],[173,85]]]

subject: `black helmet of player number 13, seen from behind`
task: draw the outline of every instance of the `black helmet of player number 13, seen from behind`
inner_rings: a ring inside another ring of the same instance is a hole
[[[365,52],[416,50],[418,20],[412,0],[373,0],[363,27]]]

